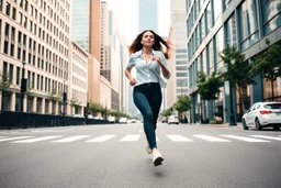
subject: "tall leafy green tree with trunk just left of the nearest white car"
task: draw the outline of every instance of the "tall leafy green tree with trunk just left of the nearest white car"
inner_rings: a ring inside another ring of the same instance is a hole
[[[226,47],[220,54],[224,62],[226,70],[222,73],[225,81],[229,81],[229,88],[234,87],[239,96],[243,110],[245,110],[247,86],[254,85],[255,74],[252,73],[252,64],[245,60],[245,55],[235,46]]]

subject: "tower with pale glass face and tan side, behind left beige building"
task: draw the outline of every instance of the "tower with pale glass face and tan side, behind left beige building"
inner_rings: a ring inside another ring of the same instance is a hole
[[[72,0],[71,2],[72,38],[89,54],[87,99],[89,102],[101,103],[103,99],[101,99],[100,91],[102,81],[100,76],[100,0]]]

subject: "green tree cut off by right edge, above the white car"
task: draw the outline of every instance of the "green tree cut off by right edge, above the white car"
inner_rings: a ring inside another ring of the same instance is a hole
[[[254,73],[260,74],[262,78],[271,82],[272,101],[274,100],[273,82],[281,77],[281,45],[270,45],[270,41],[266,38],[267,49],[255,58]]]

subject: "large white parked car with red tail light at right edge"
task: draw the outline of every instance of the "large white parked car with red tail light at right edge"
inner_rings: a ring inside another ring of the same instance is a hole
[[[276,131],[281,128],[281,102],[257,102],[243,115],[243,128],[256,126],[262,130],[272,126]]]

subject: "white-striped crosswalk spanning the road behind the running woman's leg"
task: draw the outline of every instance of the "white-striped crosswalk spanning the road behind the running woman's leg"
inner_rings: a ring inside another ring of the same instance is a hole
[[[125,135],[116,135],[116,134],[103,134],[103,135],[47,135],[47,136],[5,136],[0,135],[0,144],[1,143],[38,143],[38,142],[48,142],[48,143],[72,143],[77,141],[82,141],[85,143],[103,143],[103,142],[137,142],[142,139],[145,139],[144,134],[125,134]],[[220,134],[220,135],[206,135],[206,134],[191,134],[191,135],[181,135],[181,134],[166,134],[161,136],[157,136],[156,140],[160,141],[169,141],[169,142],[249,142],[249,143],[268,143],[268,142],[279,142],[281,141],[281,135],[270,136],[270,135],[231,135],[231,134]]]

